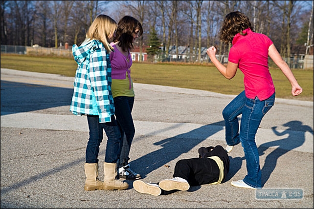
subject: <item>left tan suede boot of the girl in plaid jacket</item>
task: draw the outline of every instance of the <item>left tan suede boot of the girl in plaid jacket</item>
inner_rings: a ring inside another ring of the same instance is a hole
[[[103,182],[98,179],[98,163],[86,163],[84,167],[86,175],[84,190],[103,189]]]

